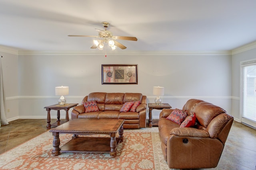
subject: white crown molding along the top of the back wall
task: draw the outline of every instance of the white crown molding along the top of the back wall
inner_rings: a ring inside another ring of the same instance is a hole
[[[105,56],[102,51],[18,51],[19,55],[98,55]],[[107,55],[231,55],[231,51],[107,51]]]

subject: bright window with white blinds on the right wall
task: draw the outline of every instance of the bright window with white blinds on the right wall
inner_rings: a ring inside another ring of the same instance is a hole
[[[242,118],[256,122],[256,61],[241,64]]]

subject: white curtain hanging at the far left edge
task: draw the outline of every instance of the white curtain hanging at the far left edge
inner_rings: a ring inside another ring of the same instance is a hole
[[[9,124],[5,114],[5,99],[4,99],[4,87],[2,77],[2,56],[0,57],[0,126]]]

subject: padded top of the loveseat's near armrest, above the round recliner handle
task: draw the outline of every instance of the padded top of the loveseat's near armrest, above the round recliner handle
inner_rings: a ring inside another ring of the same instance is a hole
[[[182,137],[209,137],[207,131],[202,131],[193,127],[176,127],[170,131],[170,135]]]

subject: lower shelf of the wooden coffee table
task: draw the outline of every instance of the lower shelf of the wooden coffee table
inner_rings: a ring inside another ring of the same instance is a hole
[[[116,147],[121,139],[116,137]],[[60,152],[110,152],[110,137],[76,137],[60,148]]]

